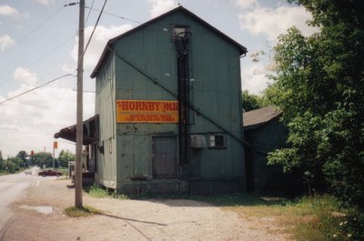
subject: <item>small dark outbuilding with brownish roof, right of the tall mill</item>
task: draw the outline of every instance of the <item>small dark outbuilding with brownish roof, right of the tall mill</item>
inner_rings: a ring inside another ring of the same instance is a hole
[[[282,166],[268,165],[267,156],[286,144],[287,126],[279,121],[282,112],[266,106],[243,114],[247,191],[256,194],[291,194],[299,187],[291,174],[283,174]]]

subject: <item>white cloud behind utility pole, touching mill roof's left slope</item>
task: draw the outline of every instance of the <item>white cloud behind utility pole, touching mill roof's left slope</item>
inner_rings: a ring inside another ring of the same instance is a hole
[[[84,56],[84,67],[94,69],[101,54],[104,50],[106,43],[109,39],[117,35],[124,34],[132,28],[131,25],[110,26],[109,28],[99,25],[96,28],[95,34],[92,37],[91,44],[88,46],[86,55]],[[85,29],[85,39],[88,40],[92,33],[94,26],[88,26]],[[86,42],[86,41],[85,41]],[[86,47],[86,43],[85,43]],[[72,57],[77,61],[78,55],[78,38],[76,37],[76,44],[71,52]]]

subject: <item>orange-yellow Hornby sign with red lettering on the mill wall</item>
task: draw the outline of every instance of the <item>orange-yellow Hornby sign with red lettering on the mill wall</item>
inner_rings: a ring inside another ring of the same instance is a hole
[[[178,123],[177,101],[116,100],[117,123]]]

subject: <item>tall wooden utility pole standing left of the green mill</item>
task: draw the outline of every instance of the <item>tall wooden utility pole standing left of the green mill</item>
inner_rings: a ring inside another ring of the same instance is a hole
[[[82,207],[82,143],[83,143],[83,82],[84,82],[84,30],[85,0],[79,1],[78,23],[78,63],[77,63],[77,111],[76,111],[76,167],[75,167],[75,206]]]

